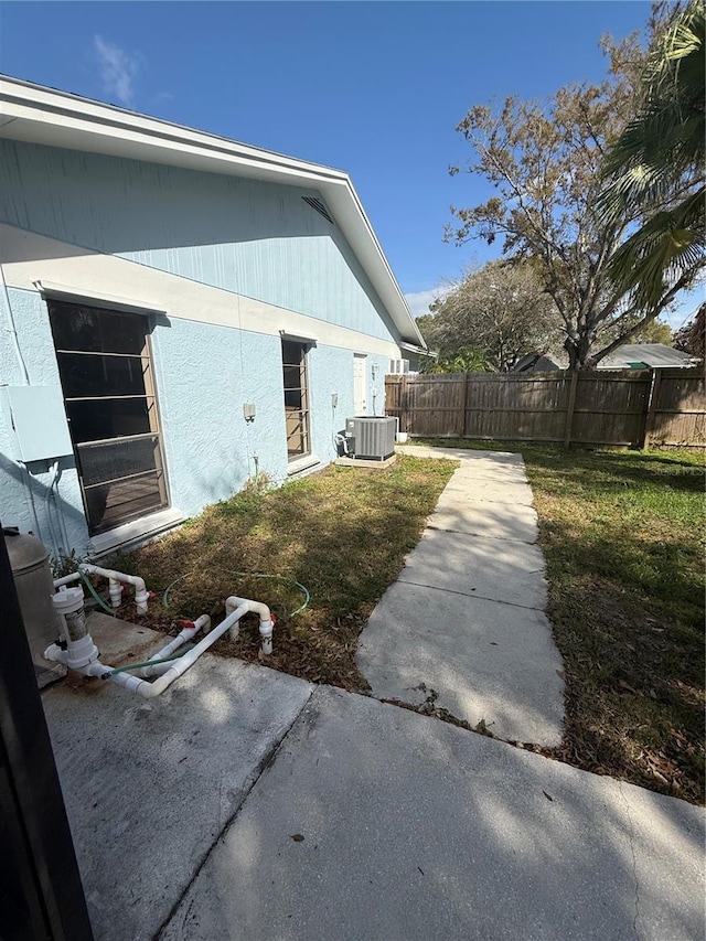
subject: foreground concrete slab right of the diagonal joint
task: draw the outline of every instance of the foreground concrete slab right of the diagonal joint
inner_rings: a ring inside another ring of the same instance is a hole
[[[694,941],[704,813],[320,687],[160,941]]]

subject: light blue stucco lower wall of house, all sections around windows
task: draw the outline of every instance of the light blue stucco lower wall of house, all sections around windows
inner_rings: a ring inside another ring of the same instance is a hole
[[[8,291],[12,321],[19,325],[20,351],[31,385],[60,384],[49,312],[38,292]],[[1,298],[1,295],[0,295]],[[2,303],[0,383],[23,385],[19,359],[10,342],[9,311]],[[281,349],[278,336],[199,323],[174,317],[150,318],[150,344],[157,384],[170,503],[183,516],[237,492],[258,468],[275,483],[288,475]],[[384,405],[386,357],[366,359],[367,398],[373,414]],[[373,396],[372,365],[378,366]],[[312,455],[320,466],[335,458],[334,434],[353,415],[353,352],[314,345],[308,353]],[[338,396],[335,410],[332,394]],[[243,404],[256,406],[246,423]],[[52,480],[47,461],[23,469],[12,451],[0,414],[0,494],[3,525],[32,530],[53,554],[75,549],[85,556],[92,544],[86,527],[73,456],[60,460],[57,512],[47,501]],[[30,494],[31,498],[30,499]]]

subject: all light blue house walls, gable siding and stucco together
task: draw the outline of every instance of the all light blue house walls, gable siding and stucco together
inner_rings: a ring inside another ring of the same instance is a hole
[[[0,222],[253,297],[284,314],[315,318],[363,339],[397,342],[387,312],[338,227],[301,199],[308,192],[0,141]],[[28,260],[36,260],[36,277],[42,278],[42,258]],[[128,284],[125,293],[133,296]],[[31,385],[58,386],[49,311],[40,292],[12,286],[7,295],[0,292],[0,384],[24,384],[21,357]],[[169,312],[151,314],[149,323],[170,505],[184,517],[194,515],[239,490],[256,469],[276,483],[285,480],[290,467],[279,335]],[[311,452],[320,466],[335,458],[334,436],[354,414],[354,352],[315,343],[308,353]],[[368,411],[383,414],[388,357],[366,351],[364,343],[362,352],[367,352]],[[245,402],[256,406],[252,423],[243,416]],[[0,415],[3,525],[38,532],[54,553],[89,554],[93,544],[73,456],[61,458],[52,492],[52,462],[24,469],[14,460],[11,438]]]

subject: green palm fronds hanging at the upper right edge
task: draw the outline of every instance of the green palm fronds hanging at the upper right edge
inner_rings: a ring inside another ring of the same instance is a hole
[[[614,253],[610,274],[648,310],[668,284],[706,263],[705,33],[703,0],[674,12],[648,55],[643,105],[607,154],[608,182],[596,201],[599,217],[610,223],[646,216]]]

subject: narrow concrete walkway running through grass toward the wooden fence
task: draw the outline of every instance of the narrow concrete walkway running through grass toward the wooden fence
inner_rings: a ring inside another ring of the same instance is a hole
[[[361,634],[357,664],[373,695],[416,706],[432,689],[436,706],[473,727],[482,720],[499,738],[558,745],[563,661],[522,457],[399,450],[460,468]]]

